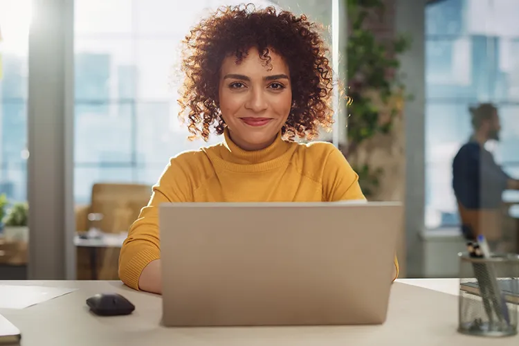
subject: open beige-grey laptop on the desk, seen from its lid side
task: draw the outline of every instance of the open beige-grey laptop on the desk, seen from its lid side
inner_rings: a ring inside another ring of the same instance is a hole
[[[159,208],[166,327],[385,322],[401,203]]]

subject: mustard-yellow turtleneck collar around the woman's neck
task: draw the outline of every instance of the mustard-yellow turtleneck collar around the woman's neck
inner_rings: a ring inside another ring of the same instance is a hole
[[[230,139],[229,130],[226,127],[224,130],[224,143],[222,143],[221,148],[221,158],[230,163],[241,165],[265,163],[283,156],[289,150],[289,147],[291,147],[290,143],[281,138],[281,131],[279,131],[274,142],[268,147],[260,150],[244,150]]]

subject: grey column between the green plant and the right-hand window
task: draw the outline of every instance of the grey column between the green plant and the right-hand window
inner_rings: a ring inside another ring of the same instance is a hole
[[[424,248],[419,234],[425,216],[425,6],[426,0],[396,0],[395,30],[411,35],[412,46],[401,57],[408,92],[406,102],[406,276],[424,275]]]

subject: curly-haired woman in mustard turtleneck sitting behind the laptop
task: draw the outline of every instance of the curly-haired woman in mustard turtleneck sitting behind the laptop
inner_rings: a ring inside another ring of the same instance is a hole
[[[332,123],[332,71],[315,24],[274,8],[227,7],[184,43],[181,118],[192,138],[208,140],[212,127],[224,138],[172,158],[129,229],[120,279],[154,293],[161,293],[160,203],[365,199],[336,147],[294,142]]]

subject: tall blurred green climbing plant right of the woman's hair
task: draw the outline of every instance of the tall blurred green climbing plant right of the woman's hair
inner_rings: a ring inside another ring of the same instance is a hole
[[[395,116],[408,98],[399,74],[399,55],[410,47],[405,35],[379,39],[367,28],[367,20],[384,15],[381,0],[345,0],[349,21],[347,41],[348,121],[345,156],[354,156],[358,146],[376,134],[388,134]],[[352,162],[366,196],[379,186],[383,171]]]

